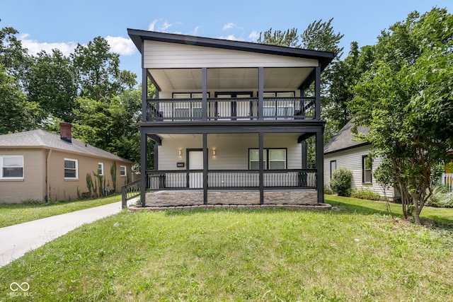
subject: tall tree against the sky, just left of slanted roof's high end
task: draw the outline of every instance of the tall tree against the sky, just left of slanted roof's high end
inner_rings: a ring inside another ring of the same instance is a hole
[[[135,74],[120,70],[120,56],[110,52],[103,37],[95,37],[88,45],[77,45],[71,60],[79,77],[79,95],[101,100],[132,89]]]

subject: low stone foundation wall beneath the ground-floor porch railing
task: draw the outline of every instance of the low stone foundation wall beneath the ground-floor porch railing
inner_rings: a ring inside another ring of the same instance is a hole
[[[207,192],[208,204],[260,204],[258,191],[214,191]],[[264,204],[317,204],[316,190],[265,191]],[[147,194],[147,207],[178,207],[203,204],[203,192],[159,191]]]

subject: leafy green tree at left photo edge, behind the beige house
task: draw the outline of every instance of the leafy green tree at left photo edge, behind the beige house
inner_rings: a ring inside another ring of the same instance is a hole
[[[13,76],[0,64],[0,134],[36,129],[40,122],[40,107],[27,102],[25,94]]]

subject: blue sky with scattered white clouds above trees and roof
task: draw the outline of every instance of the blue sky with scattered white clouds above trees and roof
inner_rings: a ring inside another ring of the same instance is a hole
[[[333,18],[333,29],[349,45],[373,45],[381,30],[403,21],[411,11],[424,13],[433,6],[453,13],[452,0],[3,0],[0,28],[20,32],[24,47],[35,54],[52,48],[69,54],[77,43],[94,37],[108,40],[120,54],[121,68],[140,72],[140,55],[127,28],[256,42],[270,28],[297,28]]]

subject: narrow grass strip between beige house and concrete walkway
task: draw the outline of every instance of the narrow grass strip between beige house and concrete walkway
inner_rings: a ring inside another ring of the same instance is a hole
[[[0,204],[0,228],[120,201],[121,194],[115,194],[108,197],[76,200],[74,202]]]

